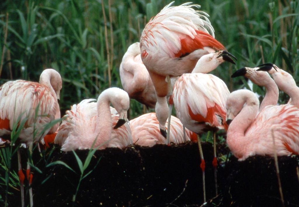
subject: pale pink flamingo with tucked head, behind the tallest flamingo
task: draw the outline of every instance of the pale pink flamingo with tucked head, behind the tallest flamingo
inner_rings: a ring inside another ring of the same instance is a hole
[[[123,89],[130,98],[147,107],[154,108],[157,102],[154,85],[149,72],[142,63],[139,42],[130,45],[119,67]]]

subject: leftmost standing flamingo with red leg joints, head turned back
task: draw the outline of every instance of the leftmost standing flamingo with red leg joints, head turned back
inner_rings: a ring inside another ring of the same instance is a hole
[[[45,136],[53,137],[59,123],[48,127],[46,124],[60,118],[57,99],[60,98],[62,80],[54,69],[46,69],[40,75],[39,83],[15,80],[8,81],[0,87],[0,136],[10,139],[13,128],[24,124],[18,140],[29,146],[30,153],[34,143],[42,141]],[[9,140],[8,140],[9,141]],[[21,185],[22,206],[24,206],[24,173],[21,168],[21,157],[18,148],[19,181]],[[32,174],[27,166],[27,178],[31,185]],[[33,206],[32,188],[30,206]]]

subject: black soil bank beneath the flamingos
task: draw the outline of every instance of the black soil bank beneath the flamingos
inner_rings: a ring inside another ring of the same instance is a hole
[[[215,195],[213,148],[203,143],[206,162],[207,203],[203,206],[282,206],[274,158],[253,156],[239,162],[231,156],[217,168],[218,191]],[[25,151],[25,150],[24,150]],[[76,150],[84,165],[89,150]],[[226,154],[225,146],[218,153]],[[24,152],[23,152],[24,153]],[[54,161],[62,164],[46,167]],[[278,158],[285,206],[299,206],[299,181],[296,168],[299,156]],[[80,169],[73,152],[64,153],[59,146],[43,152],[35,150],[33,163],[34,206],[73,206]],[[47,163],[47,164],[46,164]],[[24,165],[25,166],[25,163]],[[133,145],[121,150],[97,150],[80,183],[74,206],[201,206],[203,204],[202,171],[197,143],[157,144],[153,147]],[[2,176],[2,175],[1,175]],[[2,190],[0,188],[0,190]],[[20,206],[20,193],[10,190],[9,206]],[[2,199],[5,194],[0,193]],[[28,195],[25,196],[28,204]]]

